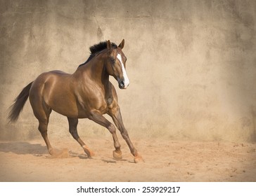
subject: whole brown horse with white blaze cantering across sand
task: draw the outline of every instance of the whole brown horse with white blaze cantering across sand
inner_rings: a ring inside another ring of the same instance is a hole
[[[122,122],[120,107],[117,104],[115,87],[109,81],[109,76],[113,76],[121,89],[125,89],[129,85],[125,71],[127,58],[122,52],[122,48],[124,48],[124,40],[118,47],[110,41],[101,42],[91,46],[89,59],[79,65],[75,73],[68,74],[63,71],[41,73],[15,99],[10,108],[9,120],[13,122],[18,120],[27,98],[30,97],[34,116],[39,121],[38,130],[44,138],[49,153],[51,155],[55,153],[47,137],[49,117],[53,110],[68,117],[70,134],[91,158],[94,153],[77,134],[78,118],[89,118],[106,127],[112,134],[115,146],[113,157],[120,160],[122,152],[115,126],[103,117],[103,114],[107,113],[113,118],[116,127],[127,142],[132,155],[134,155],[134,162],[143,160],[129,139]]]

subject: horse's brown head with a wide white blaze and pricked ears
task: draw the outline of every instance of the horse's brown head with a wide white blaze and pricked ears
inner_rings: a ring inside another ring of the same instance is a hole
[[[120,87],[126,89],[129,86],[129,78],[125,70],[125,62],[127,58],[122,52],[124,48],[124,39],[117,48],[113,48],[111,42],[107,42],[108,47],[108,61],[106,62],[107,70],[110,76],[113,76]]]

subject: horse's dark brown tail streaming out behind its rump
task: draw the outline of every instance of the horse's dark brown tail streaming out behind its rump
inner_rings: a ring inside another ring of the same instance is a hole
[[[32,82],[33,83],[33,82]],[[9,122],[15,122],[18,120],[21,111],[23,111],[23,106],[27,102],[27,97],[30,94],[30,87],[32,83],[28,84],[23,90],[20,92],[18,97],[14,100],[14,103],[9,108],[8,119]]]

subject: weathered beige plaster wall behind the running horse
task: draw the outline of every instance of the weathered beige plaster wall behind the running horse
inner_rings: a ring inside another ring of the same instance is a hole
[[[256,1],[0,1],[0,139],[40,138],[29,102],[13,99],[40,73],[73,73],[89,46],[125,39],[127,90],[117,88],[132,138],[256,141]],[[52,113],[51,137],[68,137]],[[110,137],[79,120],[82,137]]]

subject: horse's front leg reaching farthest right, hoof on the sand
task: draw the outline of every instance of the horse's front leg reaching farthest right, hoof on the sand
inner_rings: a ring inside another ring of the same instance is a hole
[[[143,158],[139,155],[136,148],[134,148],[132,141],[129,139],[128,132],[124,127],[124,123],[122,122],[120,107],[117,106],[114,109],[111,109],[109,115],[113,118],[115,126],[117,126],[117,129],[120,130],[123,139],[127,142],[127,145],[129,146],[132,155],[134,155],[134,162],[143,162]]]

